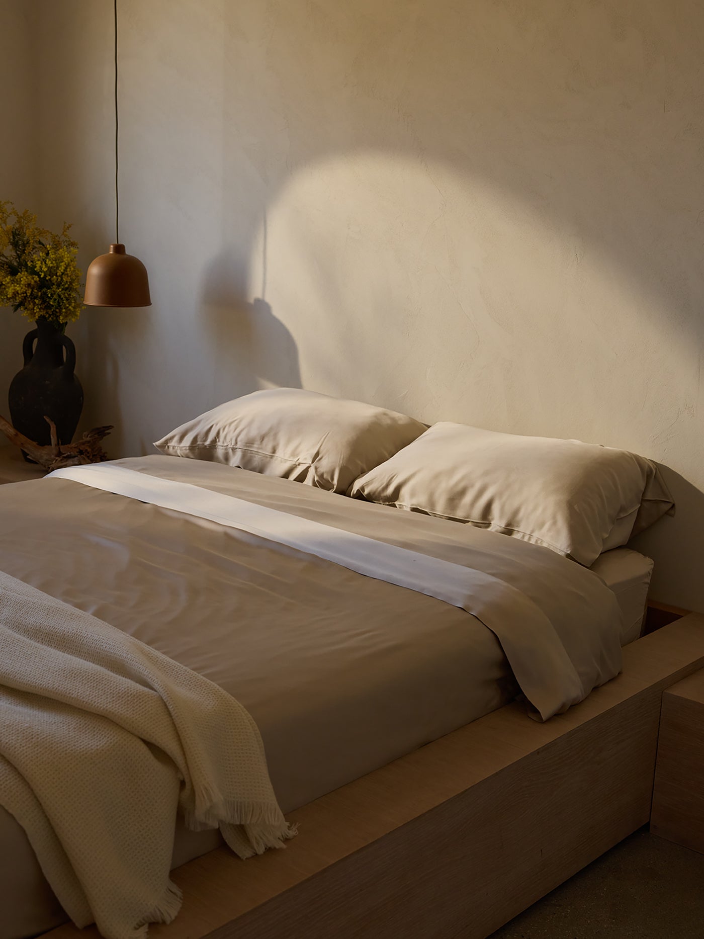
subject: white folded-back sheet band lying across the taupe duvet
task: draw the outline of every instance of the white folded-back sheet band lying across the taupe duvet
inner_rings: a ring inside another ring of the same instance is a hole
[[[56,479],[246,531],[464,609],[497,636],[518,684],[543,720],[583,700],[592,687],[620,670],[620,643],[613,633],[616,617],[605,615],[605,609],[594,608],[601,627],[592,629],[583,648],[584,642],[574,644],[571,629],[551,622],[527,593],[468,564],[115,463],[58,469],[44,485]]]

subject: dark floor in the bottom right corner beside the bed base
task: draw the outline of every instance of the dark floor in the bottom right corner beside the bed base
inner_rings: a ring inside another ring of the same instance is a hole
[[[490,939],[704,939],[704,854],[642,829]]]

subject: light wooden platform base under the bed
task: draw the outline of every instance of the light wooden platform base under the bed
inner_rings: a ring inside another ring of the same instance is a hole
[[[484,939],[648,823],[663,690],[703,666],[690,614],[565,715],[507,705],[293,812],[285,851],[184,865],[181,913],[149,935]]]

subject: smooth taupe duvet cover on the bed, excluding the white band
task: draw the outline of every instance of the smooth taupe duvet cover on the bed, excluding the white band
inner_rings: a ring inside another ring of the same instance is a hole
[[[563,630],[618,635],[613,594],[543,547],[217,464],[120,463],[451,562],[480,559]],[[61,479],[3,486],[0,519],[0,569],[124,629],[248,709],[284,811],[516,693],[497,639],[464,610],[215,522]],[[592,643],[586,655],[598,650]],[[606,680],[613,662],[603,664]],[[213,843],[210,833],[181,833],[175,860]],[[3,939],[60,916],[22,829],[0,814],[0,858],[10,855],[7,870],[0,861]]]

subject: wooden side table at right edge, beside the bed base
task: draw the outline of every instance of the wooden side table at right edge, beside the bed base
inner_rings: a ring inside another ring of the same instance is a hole
[[[704,669],[663,693],[650,831],[704,854]]]

